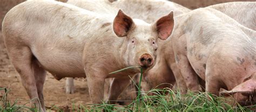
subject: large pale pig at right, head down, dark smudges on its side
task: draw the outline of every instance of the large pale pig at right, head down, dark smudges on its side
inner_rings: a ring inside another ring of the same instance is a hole
[[[174,17],[174,58],[188,89],[219,95],[220,88],[252,93],[256,74],[256,32],[218,10],[200,8]],[[250,85],[250,87],[242,88]],[[234,94],[238,102],[250,94]]]

